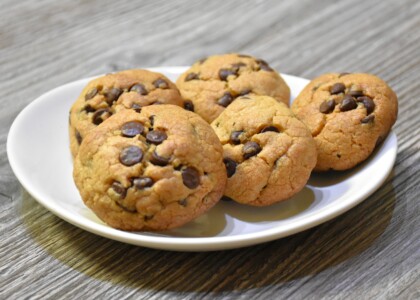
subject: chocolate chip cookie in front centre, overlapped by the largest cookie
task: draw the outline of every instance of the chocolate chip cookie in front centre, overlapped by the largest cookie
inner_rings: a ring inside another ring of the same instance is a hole
[[[240,97],[211,126],[223,145],[224,194],[239,203],[265,206],[288,199],[315,167],[311,133],[274,98]]]

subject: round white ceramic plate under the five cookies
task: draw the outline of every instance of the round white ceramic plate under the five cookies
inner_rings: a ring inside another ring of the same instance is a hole
[[[185,67],[152,69],[172,80]],[[283,75],[294,99],[308,80]],[[92,233],[139,246],[210,251],[244,247],[285,237],[330,220],[366,199],[390,173],[397,153],[393,132],[372,157],[343,173],[312,175],[292,199],[254,208],[218,203],[207,214],[166,232],[124,232],[100,221],[82,202],[73,183],[68,114],[91,78],[60,86],[30,103],[15,119],[8,136],[10,164],[24,188],[60,218]]]

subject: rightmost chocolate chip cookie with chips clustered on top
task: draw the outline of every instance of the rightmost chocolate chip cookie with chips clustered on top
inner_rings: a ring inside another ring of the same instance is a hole
[[[346,170],[367,159],[387,136],[397,118],[398,100],[374,75],[331,73],[312,80],[292,110],[315,139],[315,170]]]

